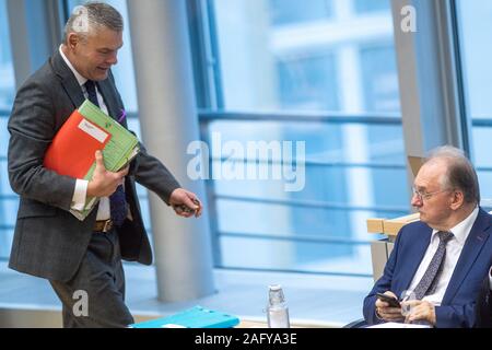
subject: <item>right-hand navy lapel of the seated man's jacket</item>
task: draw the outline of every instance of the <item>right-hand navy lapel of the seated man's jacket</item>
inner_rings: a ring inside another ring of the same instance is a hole
[[[489,232],[487,232],[489,226],[489,215],[482,209],[479,209],[477,220],[475,221],[470,234],[465,242],[465,246],[462,247],[458,262],[456,264],[455,271],[453,272],[446,293],[444,294],[443,304],[447,304],[450,300],[453,300],[459,287],[465,281],[466,276],[470,271],[475,260],[489,237]]]

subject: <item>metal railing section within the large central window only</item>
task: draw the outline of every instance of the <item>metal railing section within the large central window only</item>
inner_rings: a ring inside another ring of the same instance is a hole
[[[212,122],[220,121],[254,121],[254,122],[319,122],[319,124],[335,124],[335,125],[349,125],[349,124],[363,124],[372,126],[401,126],[401,118],[397,114],[380,114],[380,115],[347,115],[347,114],[305,114],[305,113],[233,113],[233,112],[199,112],[201,139],[206,142],[208,141],[209,127]],[[213,158],[211,154],[209,156],[210,168],[212,168],[213,162],[233,161],[227,158]],[[246,160],[247,162],[247,160]],[[255,160],[255,162],[258,162]],[[259,163],[263,164],[276,164],[282,165],[282,161],[279,160],[260,160]],[[353,168],[353,167],[365,167],[372,170],[406,170],[403,164],[380,164],[380,163],[348,163],[343,161],[323,161],[323,160],[306,160],[304,166],[309,167],[342,167],[342,168]],[[216,213],[215,209],[216,202],[219,200],[233,200],[239,202],[249,203],[260,203],[260,205],[280,205],[292,208],[308,208],[308,209],[325,209],[325,210],[341,210],[341,211],[370,211],[370,212],[386,212],[394,213],[395,215],[401,215],[408,213],[408,207],[386,207],[386,206],[353,206],[343,202],[328,202],[318,200],[305,200],[305,199],[271,199],[271,198],[254,198],[247,196],[236,196],[236,195],[219,195],[214,190],[213,180],[207,182],[208,186],[208,197],[209,206],[212,206],[211,211]],[[368,246],[368,241],[363,240],[352,240],[350,237],[340,236],[326,236],[316,234],[305,234],[305,233],[292,233],[292,234],[269,234],[269,233],[245,233],[245,232],[227,232],[219,230],[216,224],[212,224],[212,235],[215,240],[214,246],[219,249],[218,241],[220,237],[233,237],[233,238],[246,238],[246,240],[266,240],[266,241],[282,241],[282,242],[295,242],[295,243],[318,243],[318,244],[335,244],[335,245],[362,245]],[[223,267],[219,264],[218,267]],[[227,269],[231,268],[227,266]],[[249,268],[248,268],[249,270]],[[263,270],[263,269],[259,269]],[[273,271],[268,268],[265,270]],[[307,272],[301,271],[298,269],[276,269],[278,271],[295,271],[295,272]],[[350,272],[337,272],[337,271],[316,271],[315,273],[327,273],[327,275],[340,275],[340,276],[352,276],[354,273]],[[355,276],[368,277],[370,273],[355,273]]]

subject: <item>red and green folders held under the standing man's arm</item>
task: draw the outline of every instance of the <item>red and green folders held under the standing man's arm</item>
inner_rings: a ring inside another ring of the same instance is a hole
[[[106,170],[117,172],[140,149],[134,135],[85,100],[55,136],[46,152],[44,166],[60,175],[91,180],[97,150],[103,151]],[[84,220],[97,201],[98,198],[86,198],[82,210],[72,209],[70,212]]]

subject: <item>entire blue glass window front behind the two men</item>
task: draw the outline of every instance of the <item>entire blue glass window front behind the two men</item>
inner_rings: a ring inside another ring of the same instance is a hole
[[[0,0],[1,258],[10,253],[17,208],[7,173],[7,121],[15,86],[5,2]],[[67,5],[81,2],[67,0]],[[114,72],[130,128],[140,133],[127,2],[108,2],[127,24]],[[366,233],[365,220],[398,217],[410,208],[390,1],[202,3],[211,12],[206,35],[214,56],[196,67],[212,70],[214,84],[197,84],[213,86],[197,93],[214,98],[199,98],[199,107],[203,140],[219,145],[210,153],[208,182],[216,266],[371,275],[375,237]],[[487,152],[492,69],[483,44],[492,40],[492,4],[457,0],[456,10],[472,156],[482,197],[492,198]],[[268,151],[248,153],[248,142]],[[286,151],[294,178],[284,173]],[[286,190],[295,180],[301,187]],[[147,190],[139,187],[139,192],[150,226]]]

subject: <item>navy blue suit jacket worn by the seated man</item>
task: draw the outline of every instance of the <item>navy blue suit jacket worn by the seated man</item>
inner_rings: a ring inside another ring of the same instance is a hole
[[[441,306],[435,307],[436,327],[473,327],[475,305],[480,284],[492,265],[492,217],[480,209],[462,247]],[[398,296],[410,287],[431,242],[432,229],[423,222],[405,225],[373,290],[364,299],[363,313],[368,324],[380,323],[375,314],[376,293],[393,291]]]

